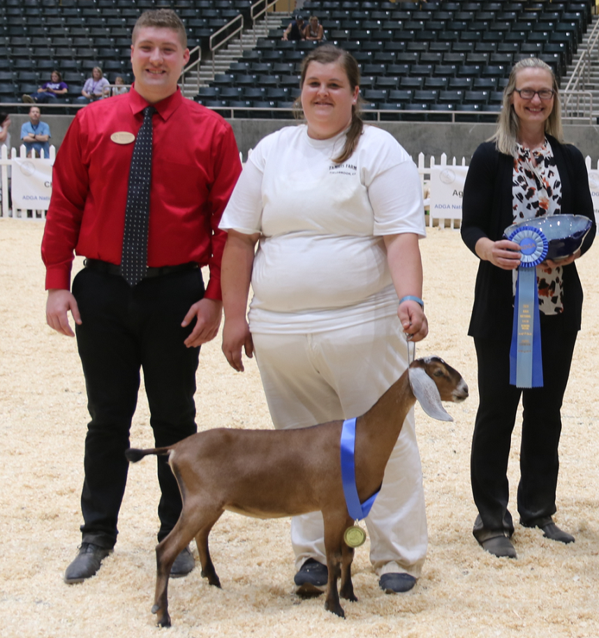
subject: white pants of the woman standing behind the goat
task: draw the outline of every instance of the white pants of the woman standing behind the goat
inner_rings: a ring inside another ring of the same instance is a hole
[[[360,416],[408,365],[406,338],[397,317],[322,333],[252,336],[268,407],[278,429]],[[407,572],[419,577],[428,537],[413,410],[365,520],[377,574]],[[291,542],[297,569],[309,558],[326,564],[320,512],[293,517]]]

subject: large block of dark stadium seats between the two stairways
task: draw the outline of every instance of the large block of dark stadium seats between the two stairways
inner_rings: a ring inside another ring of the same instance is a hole
[[[327,41],[350,51],[360,63],[365,119],[371,111],[383,111],[388,113],[380,119],[443,121],[451,119],[452,111],[464,111],[470,115],[457,115],[457,121],[486,121],[501,110],[502,89],[522,56],[539,57],[558,80],[563,77],[591,20],[591,4],[308,0],[302,13],[316,15]],[[219,91],[238,86],[242,78],[245,86],[251,83],[247,69],[239,66],[244,61],[272,63],[256,77],[255,86],[285,87],[290,98],[297,97],[301,60],[316,44],[282,41],[284,26],[258,40],[244,60],[215,78],[212,88],[217,91],[210,99],[221,98],[223,114],[233,105]],[[295,73],[281,74],[283,65],[293,65]],[[252,99],[247,93],[244,97]],[[201,91],[196,99],[206,103]],[[394,113],[405,109],[413,113]],[[423,116],[423,111],[434,113]]]

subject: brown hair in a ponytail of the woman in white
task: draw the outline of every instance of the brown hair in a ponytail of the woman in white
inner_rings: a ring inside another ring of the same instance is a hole
[[[351,91],[355,91],[355,87],[360,86],[360,67],[354,56],[334,45],[320,45],[320,47],[316,47],[316,49],[306,55],[302,61],[300,89],[304,86],[308,66],[311,62],[320,62],[320,64],[339,62],[341,68],[346,72]],[[358,97],[357,102],[351,107],[351,123],[346,134],[346,143],[339,157],[333,160],[336,164],[341,164],[341,162],[345,162],[350,158],[356,149],[357,143],[360,141],[360,135],[362,135],[362,130],[364,130],[364,123],[360,117],[360,111],[360,97]],[[295,114],[301,118],[304,117],[304,113],[302,112],[302,96],[299,96],[295,100]]]

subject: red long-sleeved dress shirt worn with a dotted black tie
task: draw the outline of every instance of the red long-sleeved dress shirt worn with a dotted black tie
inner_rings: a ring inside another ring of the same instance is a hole
[[[133,142],[148,102],[135,89],[100,100],[75,116],[52,172],[52,199],[42,241],[46,289],[70,289],[77,255],[121,263]],[[208,265],[206,297],[221,299],[227,238],[219,221],[241,172],[232,129],[221,116],[177,89],[154,104],[148,266]]]

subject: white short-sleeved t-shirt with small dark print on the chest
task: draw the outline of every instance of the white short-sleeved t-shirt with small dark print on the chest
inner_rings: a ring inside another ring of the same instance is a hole
[[[260,233],[249,322],[254,333],[310,333],[397,312],[383,235],[425,236],[420,177],[389,133],[364,126],[342,164],[345,132],[306,125],[268,135],[251,153],[220,227]]]

